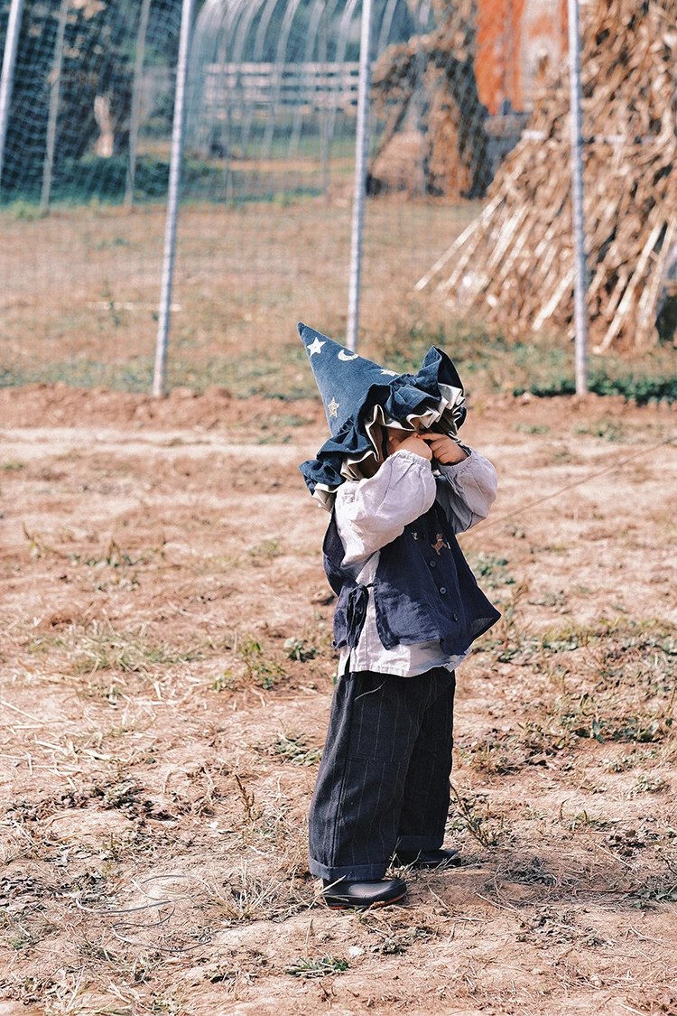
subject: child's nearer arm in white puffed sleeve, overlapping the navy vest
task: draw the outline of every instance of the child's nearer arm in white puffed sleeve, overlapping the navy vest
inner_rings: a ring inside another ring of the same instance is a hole
[[[374,477],[342,484],[334,511],[343,565],[364,561],[396,539],[432,506],[436,492],[427,457],[410,448],[396,451]]]

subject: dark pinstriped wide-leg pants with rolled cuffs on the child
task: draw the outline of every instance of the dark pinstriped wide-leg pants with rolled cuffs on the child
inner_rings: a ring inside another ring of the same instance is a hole
[[[334,692],[310,814],[310,870],[382,879],[397,847],[442,846],[449,811],[456,678],[363,671]]]

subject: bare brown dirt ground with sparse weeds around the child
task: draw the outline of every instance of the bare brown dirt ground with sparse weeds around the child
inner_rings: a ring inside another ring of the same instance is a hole
[[[359,914],[306,854],[319,404],[0,391],[0,1016],[674,1016],[676,419],[475,398],[503,618],[459,672],[464,865]]]

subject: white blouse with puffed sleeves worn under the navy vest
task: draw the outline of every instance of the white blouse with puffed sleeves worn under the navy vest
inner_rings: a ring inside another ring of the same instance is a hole
[[[396,451],[374,477],[346,481],[336,492],[336,527],[347,568],[362,585],[374,581],[382,547],[404,532],[437,500],[454,532],[463,532],[489,513],[496,497],[496,470],[483,455],[462,446],[468,457],[452,465],[430,462],[409,450]],[[354,649],[341,650],[339,674],[374,671],[410,678],[433,666],[455,670],[468,655],[449,656],[439,642],[398,644],[386,649],[377,630],[373,590],[366,618]],[[348,657],[350,657],[348,661]]]

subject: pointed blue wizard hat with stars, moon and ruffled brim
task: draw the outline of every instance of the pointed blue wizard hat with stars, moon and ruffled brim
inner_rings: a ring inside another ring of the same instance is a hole
[[[298,334],[320,389],[331,438],[299,466],[311,493],[328,504],[346,480],[359,480],[360,463],[378,461],[375,425],[413,431],[414,419],[455,437],[466,416],[463,384],[435,345],[417,374],[388,371],[306,324]]]

